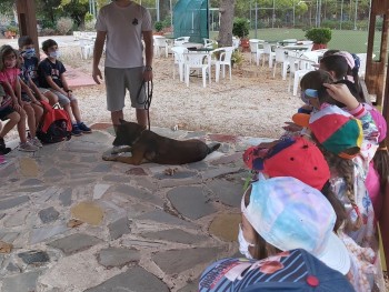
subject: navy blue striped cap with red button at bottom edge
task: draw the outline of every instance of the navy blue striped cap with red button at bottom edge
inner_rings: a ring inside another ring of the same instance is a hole
[[[223,259],[201,274],[199,292],[351,292],[350,282],[340,272],[297,249],[261,261]]]

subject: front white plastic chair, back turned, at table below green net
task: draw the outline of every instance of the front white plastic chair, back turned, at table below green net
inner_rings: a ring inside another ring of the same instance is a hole
[[[211,83],[211,63],[209,54],[198,53],[198,52],[187,52],[183,53],[184,58],[184,80],[187,87],[189,87],[189,75],[190,70],[197,69],[201,70],[202,74],[202,87],[207,87],[207,73],[209,77],[209,84]],[[207,60],[205,60],[207,59]]]

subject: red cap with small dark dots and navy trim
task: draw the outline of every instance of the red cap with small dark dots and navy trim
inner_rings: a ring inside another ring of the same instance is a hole
[[[292,177],[318,190],[330,179],[330,170],[320,149],[303,137],[282,140],[262,157],[250,153],[256,151],[243,154],[245,162],[251,161],[255,170],[270,178]],[[250,167],[250,163],[247,165]]]

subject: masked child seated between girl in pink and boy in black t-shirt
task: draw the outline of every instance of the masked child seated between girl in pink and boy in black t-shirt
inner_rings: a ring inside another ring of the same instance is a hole
[[[36,56],[34,43],[28,36],[20,37],[18,40],[21,63],[21,79],[32,90],[38,100],[43,100],[54,105],[58,98],[50,90],[41,88],[38,79],[38,63],[39,59]]]

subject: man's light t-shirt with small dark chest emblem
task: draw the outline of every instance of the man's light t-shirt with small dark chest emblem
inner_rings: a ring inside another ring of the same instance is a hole
[[[152,30],[150,12],[144,7],[132,1],[128,7],[111,2],[100,9],[96,30],[107,32],[106,67],[143,66],[142,31]]]

